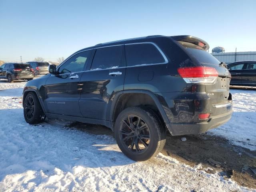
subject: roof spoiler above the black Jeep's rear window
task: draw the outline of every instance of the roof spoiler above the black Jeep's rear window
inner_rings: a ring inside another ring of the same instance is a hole
[[[206,41],[204,41],[200,38],[194,37],[194,36],[178,35],[178,36],[171,36],[171,38],[173,38],[176,41],[183,41],[183,42],[195,44],[197,46],[200,46],[201,48],[203,48],[206,51],[210,48],[209,44]]]

